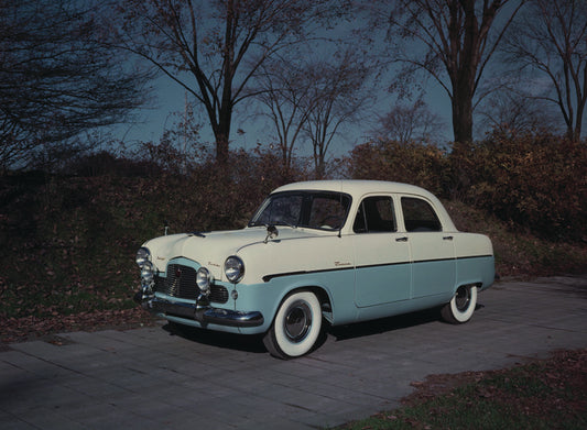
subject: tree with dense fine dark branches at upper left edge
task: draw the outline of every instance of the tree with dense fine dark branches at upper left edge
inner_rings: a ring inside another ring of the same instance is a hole
[[[127,119],[145,79],[95,38],[96,9],[74,0],[0,0],[0,166]]]

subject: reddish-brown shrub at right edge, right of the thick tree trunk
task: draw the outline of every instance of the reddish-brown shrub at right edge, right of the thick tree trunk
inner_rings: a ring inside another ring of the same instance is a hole
[[[469,202],[550,239],[587,239],[584,143],[494,133],[472,147],[468,166]]]

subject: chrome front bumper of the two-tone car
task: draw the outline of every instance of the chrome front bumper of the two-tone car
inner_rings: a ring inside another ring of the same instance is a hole
[[[171,300],[156,297],[142,287],[135,295],[134,301],[152,313],[186,318],[198,321],[200,324],[218,324],[227,327],[259,327],[264,322],[259,311],[241,312],[230,309],[211,307],[205,298],[199,298],[195,304]]]

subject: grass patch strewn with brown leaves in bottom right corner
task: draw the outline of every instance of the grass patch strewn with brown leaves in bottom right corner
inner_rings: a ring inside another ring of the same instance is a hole
[[[580,417],[585,417],[587,407],[584,395],[587,384],[586,366],[587,350],[581,349],[555,351],[546,360],[517,363],[511,368],[430,375],[424,382],[411,384],[415,392],[404,397],[402,404],[413,408],[430,408],[430,421],[426,419],[428,417],[424,420],[410,420],[411,428],[434,427],[430,426],[434,422],[434,417],[449,414],[446,408],[455,408],[456,401],[442,401],[443,399],[461,399],[469,404],[476,401],[493,405],[493,408],[504,407],[512,415],[540,417],[546,423],[544,428],[564,428],[561,421],[580,422],[585,419]],[[404,410],[379,417],[409,422]],[[455,427],[461,428],[456,423]],[[512,422],[512,428],[517,427]]]

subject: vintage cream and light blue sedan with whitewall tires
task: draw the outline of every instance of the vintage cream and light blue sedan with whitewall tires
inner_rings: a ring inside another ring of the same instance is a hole
[[[281,359],[330,326],[442,307],[468,321],[494,278],[493,249],[457,231],[412,185],[317,180],[269,195],[242,230],[164,235],[137,254],[135,299],[174,323],[264,333]]]

